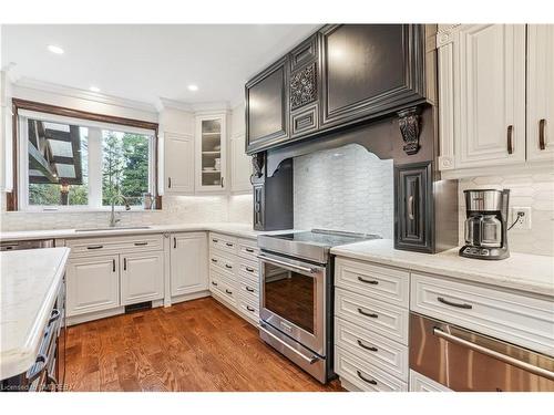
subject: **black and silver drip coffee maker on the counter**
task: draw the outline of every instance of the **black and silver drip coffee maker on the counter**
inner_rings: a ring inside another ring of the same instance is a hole
[[[510,190],[464,190],[466,219],[465,245],[460,256],[478,259],[504,259],[507,250],[507,205]]]

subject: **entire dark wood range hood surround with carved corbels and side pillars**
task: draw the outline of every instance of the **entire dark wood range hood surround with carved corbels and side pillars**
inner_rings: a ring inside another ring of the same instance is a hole
[[[458,245],[458,181],[434,169],[435,32],[434,24],[326,25],[246,84],[255,229],[294,227],[294,157],[356,143],[393,159],[394,247]]]

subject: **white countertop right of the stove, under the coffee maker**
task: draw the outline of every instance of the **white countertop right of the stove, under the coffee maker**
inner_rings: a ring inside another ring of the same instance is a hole
[[[331,249],[331,253],[554,297],[554,257],[511,252],[497,261],[463,258],[458,248],[435,255],[393,249],[390,239],[375,239]]]

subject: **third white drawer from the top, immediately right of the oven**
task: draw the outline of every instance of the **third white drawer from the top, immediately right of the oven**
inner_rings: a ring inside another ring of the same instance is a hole
[[[335,344],[408,382],[407,346],[339,318],[335,318]]]

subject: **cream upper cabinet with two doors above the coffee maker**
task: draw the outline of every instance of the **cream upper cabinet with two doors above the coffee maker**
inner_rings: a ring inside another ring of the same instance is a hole
[[[439,28],[440,169],[554,159],[553,28]]]

